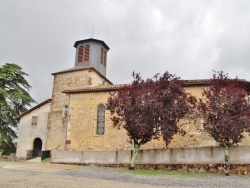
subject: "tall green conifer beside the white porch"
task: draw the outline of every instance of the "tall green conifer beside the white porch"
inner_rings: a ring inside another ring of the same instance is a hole
[[[0,67],[0,147],[13,146],[17,137],[16,117],[35,102],[28,93],[31,86],[25,76],[28,74],[16,64]]]

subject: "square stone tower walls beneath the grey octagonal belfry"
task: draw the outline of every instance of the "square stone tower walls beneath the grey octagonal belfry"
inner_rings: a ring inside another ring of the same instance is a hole
[[[62,91],[103,84],[107,85],[108,82],[92,69],[54,74],[51,112],[48,117],[47,150],[64,149],[66,124],[62,117],[65,105],[69,103],[69,96]]]

